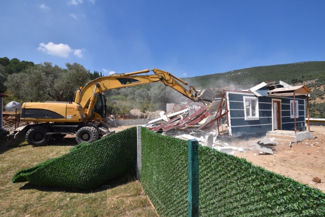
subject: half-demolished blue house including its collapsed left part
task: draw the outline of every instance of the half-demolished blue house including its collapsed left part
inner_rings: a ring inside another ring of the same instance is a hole
[[[214,140],[250,139],[279,131],[296,134],[306,130],[309,92],[305,85],[291,86],[282,81],[263,82],[241,91],[224,90],[211,105],[174,106],[146,127],[173,136],[184,133],[196,138],[212,135]]]

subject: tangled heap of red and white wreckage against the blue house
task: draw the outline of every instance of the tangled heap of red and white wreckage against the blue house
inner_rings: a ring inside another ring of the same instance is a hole
[[[182,139],[197,139],[212,147],[220,132],[228,133],[228,109],[222,98],[206,105],[203,102],[167,104],[167,113],[148,122],[152,131]]]

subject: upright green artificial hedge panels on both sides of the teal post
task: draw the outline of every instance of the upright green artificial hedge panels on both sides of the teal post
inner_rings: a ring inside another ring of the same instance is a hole
[[[187,141],[142,128],[141,184],[159,216],[187,216]],[[199,146],[200,216],[325,216],[325,194]]]

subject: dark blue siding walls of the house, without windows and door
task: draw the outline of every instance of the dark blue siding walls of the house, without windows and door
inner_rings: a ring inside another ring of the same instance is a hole
[[[290,100],[293,97],[257,97],[258,114],[257,120],[245,120],[244,97],[255,97],[251,94],[229,93],[229,108],[232,137],[257,137],[264,136],[272,131],[272,99],[281,100],[281,129],[295,130],[295,119],[290,117]],[[304,96],[296,97],[299,108],[297,115],[297,129],[305,128],[305,101]]]

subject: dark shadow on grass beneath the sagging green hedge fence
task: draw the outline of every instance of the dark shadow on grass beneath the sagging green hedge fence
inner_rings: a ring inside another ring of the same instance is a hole
[[[19,190],[39,190],[43,192],[68,192],[68,193],[80,193],[80,194],[89,194],[89,193],[96,193],[96,192],[102,192],[107,191],[109,189],[114,189],[115,187],[118,187],[119,185],[126,184],[130,181],[135,181],[136,176],[134,174],[127,174],[127,175],[120,175],[117,176],[108,182],[104,183],[103,185],[94,188],[92,190],[84,190],[84,189],[77,189],[77,188],[68,188],[68,187],[55,187],[55,186],[38,186],[33,185],[30,183],[26,183],[21,187]]]

